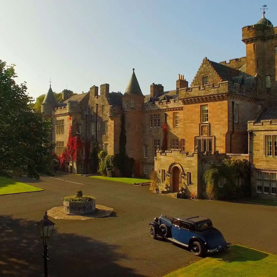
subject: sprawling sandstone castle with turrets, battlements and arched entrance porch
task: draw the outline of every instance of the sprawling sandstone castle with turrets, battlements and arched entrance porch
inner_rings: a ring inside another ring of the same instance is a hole
[[[126,154],[135,159],[134,174],[155,169],[160,190],[179,192],[183,183],[205,197],[203,173],[224,158],[247,159],[253,196],[276,199],[277,174],[277,27],[263,16],[242,28],[246,57],[213,62],[205,57],[191,86],[183,75],[164,91],[151,84],[144,95],[133,69],[124,94],[109,84],[57,103],[51,85],[41,106],[52,118],[55,152],[62,154],[68,136],[82,142],[79,160],[65,170],[88,173],[89,147],[97,138],[101,149],[119,152],[120,117],[125,116]],[[166,183],[166,180],[169,180]],[[224,185],[220,180],[219,186]]]

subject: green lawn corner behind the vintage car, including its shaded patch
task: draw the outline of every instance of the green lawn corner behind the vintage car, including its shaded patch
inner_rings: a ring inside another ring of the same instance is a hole
[[[277,276],[277,255],[240,245],[209,256],[165,277],[265,277]]]

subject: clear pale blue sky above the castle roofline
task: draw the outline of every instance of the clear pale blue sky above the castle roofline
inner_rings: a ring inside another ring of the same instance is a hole
[[[263,1],[0,0],[0,59],[16,64],[30,96],[108,83],[124,92],[132,68],[143,94],[152,83],[189,84],[203,58],[245,56],[241,28],[256,23]],[[277,25],[276,0],[266,18]],[[275,16],[274,16],[275,14]]]

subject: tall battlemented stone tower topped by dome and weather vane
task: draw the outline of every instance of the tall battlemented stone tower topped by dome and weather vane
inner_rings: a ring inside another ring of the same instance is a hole
[[[277,28],[264,14],[256,24],[242,28],[242,41],[246,45],[247,74],[258,78],[259,97],[272,106],[277,103]]]

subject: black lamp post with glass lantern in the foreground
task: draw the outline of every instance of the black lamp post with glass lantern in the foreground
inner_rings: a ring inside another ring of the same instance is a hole
[[[48,219],[47,211],[45,211],[43,219],[38,223],[38,231],[40,238],[39,242],[43,244],[43,261],[44,261],[44,277],[48,277],[48,269],[47,269],[47,260],[48,259],[48,244],[52,242],[52,232],[54,229],[55,223]]]

